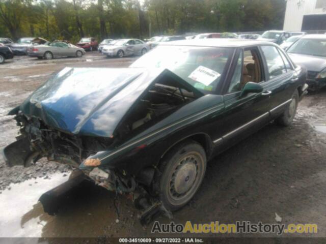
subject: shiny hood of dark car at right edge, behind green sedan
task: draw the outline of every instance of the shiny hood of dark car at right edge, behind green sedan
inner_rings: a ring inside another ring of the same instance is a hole
[[[322,69],[326,68],[326,57],[295,53],[288,54],[295,64],[303,66],[309,71],[320,72]]]

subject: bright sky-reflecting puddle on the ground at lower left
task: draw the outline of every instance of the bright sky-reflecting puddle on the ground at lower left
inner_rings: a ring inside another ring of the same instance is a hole
[[[42,218],[41,204],[36,206],[39,215],[22,218],[35,208],[40,196],[68,179],[62,173],[53,174],[51,179],[29,179],[20,184],[11,184],[11,189],[0,194],[0,237],[39,237],[49,218]],[[37,181],[37,184],[35,183]],[[48,216],[49,217],[49,216]]]

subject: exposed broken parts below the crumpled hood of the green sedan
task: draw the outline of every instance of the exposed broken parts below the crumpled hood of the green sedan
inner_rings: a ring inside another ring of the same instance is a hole
[[[4,148],[8,166],[29,167],[41,158],[78,167],[86,158],[112,143],[111,138],[80,137],[51,128],[36,117],[18,112],[17,141]]]

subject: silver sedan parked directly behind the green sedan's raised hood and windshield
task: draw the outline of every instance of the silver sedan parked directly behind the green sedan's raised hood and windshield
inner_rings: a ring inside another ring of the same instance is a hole
[[[149,49],[149,46],[139,39],[120,39],[113,45],[104,46],[102,54],[111,57],[123,57],[133,54],[143,55]]]

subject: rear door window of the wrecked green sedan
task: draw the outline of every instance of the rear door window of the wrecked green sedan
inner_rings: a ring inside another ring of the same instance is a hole
[[[262,46],[261,49],[266,59],[269,79],[285,74],[286,68],[277,48],[274,46]]]

